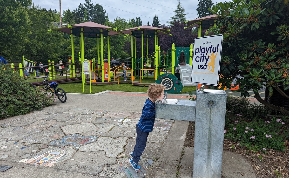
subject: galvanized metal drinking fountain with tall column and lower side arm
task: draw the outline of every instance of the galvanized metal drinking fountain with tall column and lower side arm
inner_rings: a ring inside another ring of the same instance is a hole
[[[198,90],[197,101],[156,103],[156,118],[195,122],[193,178],[221,178],[227,94]]]

